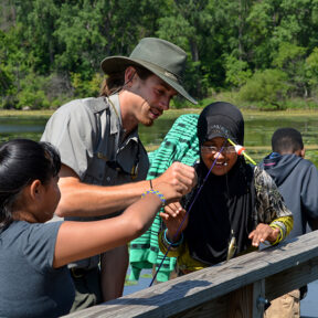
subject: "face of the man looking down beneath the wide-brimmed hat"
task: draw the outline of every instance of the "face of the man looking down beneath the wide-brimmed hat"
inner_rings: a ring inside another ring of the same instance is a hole
[[[156,75],[150,75],[145,81],[137,74],[134,77],[129,89],[135,94],[132,115],[138,123],[151,126],[163,110],[169,109],[170,100],[177,92]]]

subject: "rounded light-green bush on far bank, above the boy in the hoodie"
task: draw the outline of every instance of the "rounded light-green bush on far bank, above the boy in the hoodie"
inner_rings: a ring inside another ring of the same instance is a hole
[[[264,108],[283,109],[287,97],[287,74],[278,70],[255,72],[240,89],[240,98],[250,102],[262,102]]]

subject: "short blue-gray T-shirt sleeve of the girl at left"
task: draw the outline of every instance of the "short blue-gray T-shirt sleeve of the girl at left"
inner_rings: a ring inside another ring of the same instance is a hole
[[[29,264],[40,272],[52,271],[57,232],[63,221],[35,223],[25,233],[23,253]]]

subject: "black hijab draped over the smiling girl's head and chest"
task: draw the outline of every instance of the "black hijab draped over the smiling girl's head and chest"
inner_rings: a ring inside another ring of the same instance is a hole
[[[198,121],[199,145],[214,137],[231,138],[235,144],[244,142],[244,119],[235,106],[229,103],[213,103],[206,106]],[[199,182],[195,190],[186,198],[186,209],[192,204],[195,191],[200,189],[209,172],[200,158],[195,167]],[[252,231],[253,169],[243,157],[224,176],[210,173],[189,214],[184,237],[190,255],[204,264],[213,265],[226,259],[231,232],[236,239],[236,252],[251,246],[247,237]]]

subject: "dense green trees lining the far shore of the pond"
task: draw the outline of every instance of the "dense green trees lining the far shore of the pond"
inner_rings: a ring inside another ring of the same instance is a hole
[[[318,98],[318,0],[1,4],[1,108],[54,108],[74,97],[97,96],[100,61],[129,55],[144,36],[166,39],[188,53],[183,84],[198,100],[237,88],[241,98],[276,108],[293,107],[286,98]],[[264,84],[259,92],[258,82]],[[273,92],[266,88],[271,85]],[[172,107],[188,105],[177,98]]]

